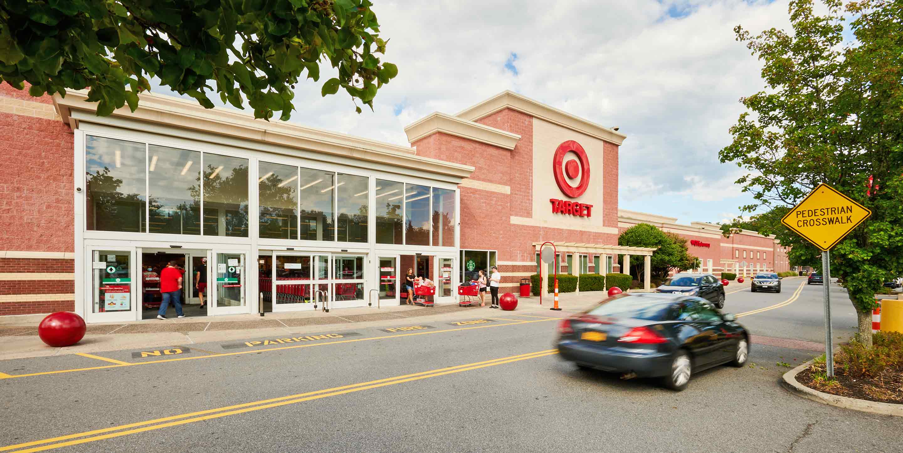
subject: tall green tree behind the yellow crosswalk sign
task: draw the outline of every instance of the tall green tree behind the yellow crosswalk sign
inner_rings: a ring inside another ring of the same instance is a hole
[[[831,274],[842,278],[859,317],[858,339],[870,347],[874,295],[903,270],[903,2],[824,6],[816,14],[813,0],[791,1],[790,32],[753,36],[735,28],[763,61],[766,88],[740,99],[749,112],[731,127],[732,143],[720,157],[749,171],[737,184],[756,203],[744,212],[789,209],[821,183],[871,210],[831,250]],[[844,14],[855,42],[843,41]],[[784,228],[759,232],[803,245]]]

